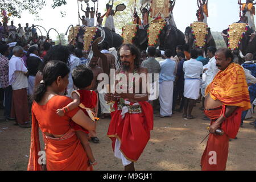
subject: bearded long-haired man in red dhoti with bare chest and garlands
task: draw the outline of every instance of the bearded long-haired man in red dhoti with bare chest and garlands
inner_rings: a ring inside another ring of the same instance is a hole
[[[147,102],[147,89],[143,92],[146,86],[142,83],[147,81],[139,78],[128,82],[128,75],[138,73],[147,79],[148,71],[147,68],[140,66],[141,54],[133,45],[124,44],[119,49],[118,55],[121,68],[115,74],[126,75],[127,82],[119,85],[121,94],[118,94],[120,93],[118,91],[115,94],[105,94],[106,101],[115,101],[108,136],[112,139],[115,157],[122,159],[126,171],[134,171],[134,162],[139,159],[150,139],[150,131],[153,129],[153,109]],[[115,88],[118,88],[118,84]],[[139,86],[138,93],[137,86]]]

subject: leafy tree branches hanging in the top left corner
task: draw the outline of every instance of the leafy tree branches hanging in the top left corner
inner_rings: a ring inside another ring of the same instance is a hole
[[[65,0],[52,0],[52,8],[66,5]],[[21,18],[22,11],[28,11],[31,14],[37,15],[39,10],[42,10],[47,5],[46,0],[1,0],[0,9],[6,10],[13,16]]]

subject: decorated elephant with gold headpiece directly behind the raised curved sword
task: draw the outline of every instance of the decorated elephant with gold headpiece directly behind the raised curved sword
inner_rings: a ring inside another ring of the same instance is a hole
[[[123,39],[120,35],[116,34],[113,31],[110,31],[106,27],[80,27],[76,26],[73,36],[73,30],[69,30],[69,40],[74,37],[75,46],[83,49],[84,51],[89,51],[92,47],[92,42],[99,37],[103,37],[103,41],[109,43],[109,47],[115,47],[118,49],[123,42]]]

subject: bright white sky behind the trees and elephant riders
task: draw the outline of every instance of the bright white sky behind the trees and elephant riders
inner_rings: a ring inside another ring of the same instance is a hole
[[[109,0],[98,0],[99,1],[99,12],[101,14],[105,13],[105,5]],[[237,0],[208,0],[208,26],[212,31],[222,31],[228,28],[229,24],[237,22],[239,20],[239,5]],[[242,0],[245,2],[246,0]],[[138,2],[138,0],[137,0]],[[14,20],[14,25],[18,27],[18,23],[25,26],[26,23],[38,24],[49,30],[49,28],[55,28],[59,33],[65,34],[67,28],[70,24],[76,25],[78,21],[77,13],[77,0],[67,0],[67,5],[57,7],[56,9],[51,8],[52,0],[47,0],[48,5],[39,11],[39,17],[42,20],[35,20],[35,15],[31,15],[28,12],[22,13],[22,18],[11,18]],[[89,2],[90,5],[93,5],[93,2]],[[125,2],[124,2],[125,3]],[[81,11],[80,5],[80,15],[84,15]],[[85,9],[86,5],[83,2],[83,7]],[[97,5],[96,5],[97,7]],[[185,31],[185,28],[189,26],[192,22],[197,20],[196,10],[197,0],[176,0],[176,5],[174,7],[174,19],[177,28],[182,32]],[[61,11],[65,12],[66,15],[64,18],[61,17]],[[126,10],[125,10],[126,11]],[[130,20],[128,21],[130,23]],[[81,21],[80,21],[81,24]],[[42,29],[42,28],[41,28]],[[42,29],[43,35],[45,34]],[[39,33],[40,34],[40,33]],[[51,39],[55,40],[57,34],[52,30],[49,32]]]

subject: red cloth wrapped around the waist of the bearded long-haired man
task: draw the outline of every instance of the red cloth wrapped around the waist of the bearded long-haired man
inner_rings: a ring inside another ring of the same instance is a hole
[[[153,109],[148,102],[138,102],[137,105],[117,103],[114,104],[115,111],[111,113],[108,136],[112,139],[113,151],[118,138],[119,150],[127,160],[136,162],[150,139],[150,131],[153,129]],[[133,106],[140,112],[135,111]]]

